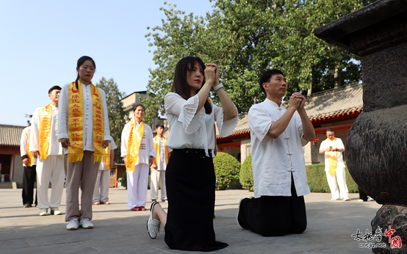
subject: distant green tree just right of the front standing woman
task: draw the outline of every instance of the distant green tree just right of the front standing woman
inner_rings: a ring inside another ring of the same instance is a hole
[[[114,163],[123,163],[120,157],[120,146],[122,130],[126,124],[126,113],[123,110],[122,99],[125,97],[125,93],[119,90],[117,83],[113,78],[106,80],[102,77],[96,87],[101,88],[106,93],[107,115],[109,117],[110,136],[118,146],[118,149],[114,150]]]

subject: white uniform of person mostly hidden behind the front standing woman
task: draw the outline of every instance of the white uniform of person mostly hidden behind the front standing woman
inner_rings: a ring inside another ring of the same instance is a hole
[[[110,152],[118,148],[114,143],[113,138],[110,140]],[[107,156],[110,157],[110,154]],[[98,176],[96,178],[95,190],[93,192],[92,202],[106,202],[109,201],[109,183],[110,183],[110,169],[106,168],[106,162],[101,162],[98,170]],[[100,192],[99,192],[100,186]]]

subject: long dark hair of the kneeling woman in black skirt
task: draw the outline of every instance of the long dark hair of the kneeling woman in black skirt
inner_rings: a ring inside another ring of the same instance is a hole
[[[188,72],[191,72],[193,70],[193,67],[195,66],[196,62],[198,62],[202,70],[205,71],[205,64],[197,56],[187,56],[182,58],[177,63],[177,66],[175,68],[174,81],[172,82],[171,92],[180,94],[180,96],[185,100],[188,100],[191,97],[189,85],[187,82],[187,75]],[[204,79],[202,82],[202,86],[203,84],[205,84],[205,75],[203,75],[203,77]],[[212,106],[208,100],[205,102],[203,107],[205,107],[205,113],[207,114],[212,113]]]

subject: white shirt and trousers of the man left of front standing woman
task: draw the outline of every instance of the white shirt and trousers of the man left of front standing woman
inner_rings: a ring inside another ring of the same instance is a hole
[[[64,159],[61,143],[58,141],[58,108],[52,107],[51,131],[49,133],[49,147],[47,157],[37,160],[37,199],[40,209],[59,207],[64,190]],[[31,124],[30,152],[39,151],[40,147],[40,112],[37,108],[33,114]],[[51,197],[48,201],[48,184],[52,179]]]

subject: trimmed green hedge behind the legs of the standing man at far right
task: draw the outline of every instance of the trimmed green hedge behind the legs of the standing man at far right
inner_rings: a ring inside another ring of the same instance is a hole
[[[307,169],[308,185],[311,192],[330,193],[328,186],[327,175],[325,173],[325,164],[312,164],[305,166]],[[349,193],[359,193],[358,185],[349,174],[347,167],[345,168],[346,185]]]

